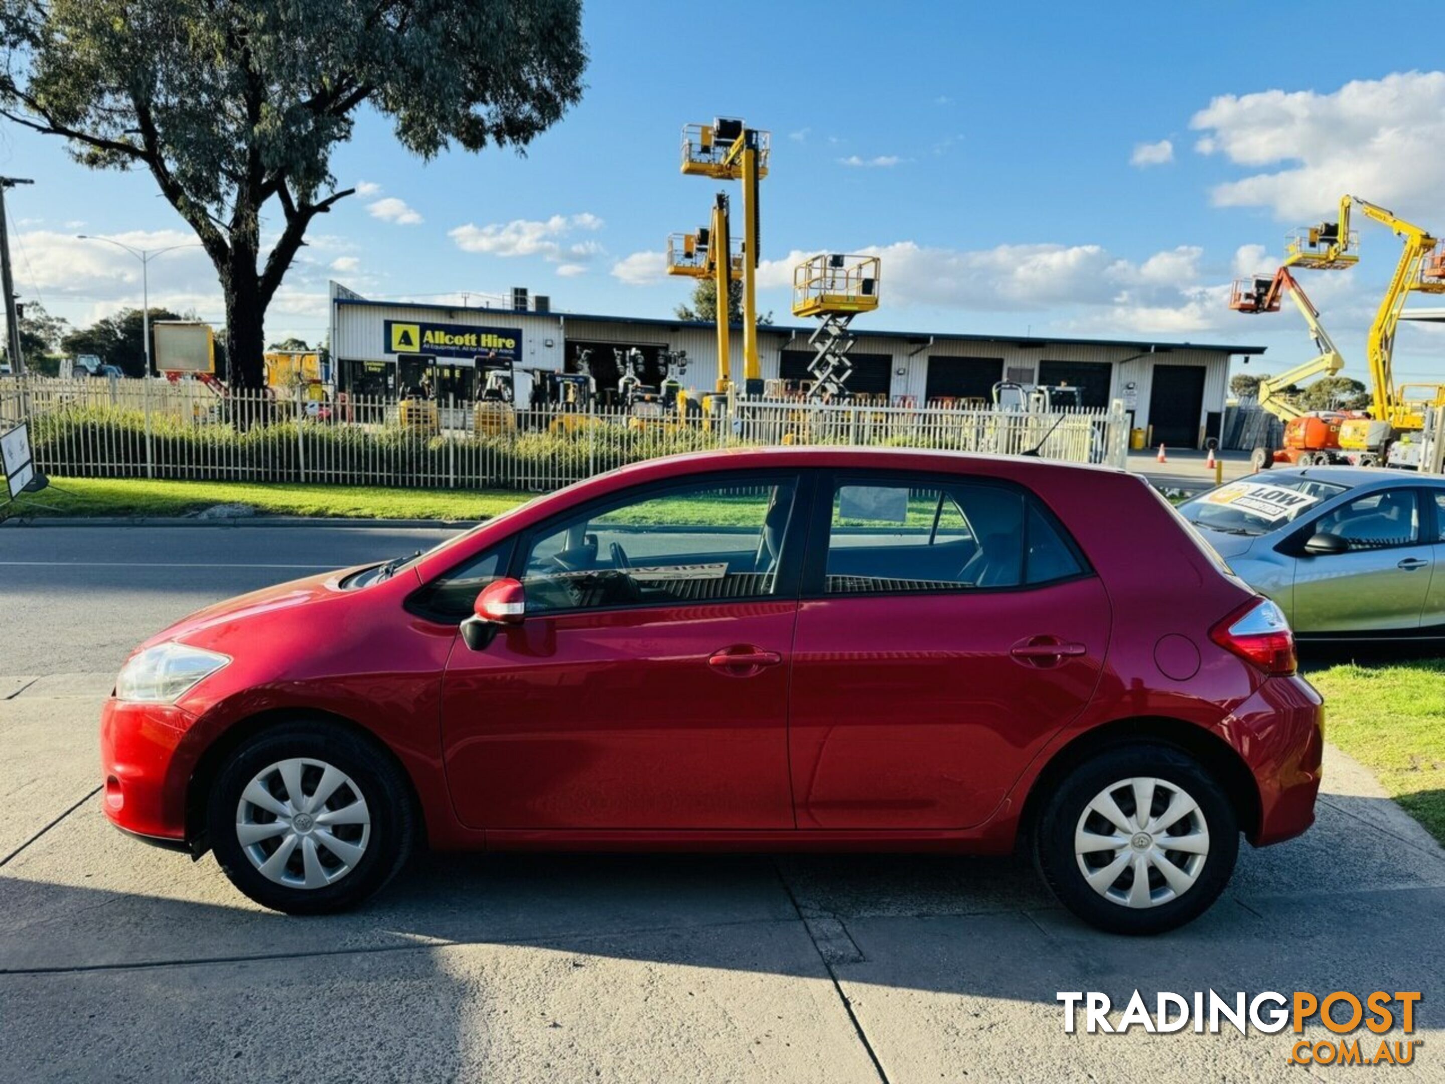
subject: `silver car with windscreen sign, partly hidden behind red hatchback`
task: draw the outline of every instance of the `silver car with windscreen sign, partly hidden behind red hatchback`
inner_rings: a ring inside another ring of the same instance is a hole
[[[1270,470],[1179,512],[1299,639],[1445,639],[1445,478]]]

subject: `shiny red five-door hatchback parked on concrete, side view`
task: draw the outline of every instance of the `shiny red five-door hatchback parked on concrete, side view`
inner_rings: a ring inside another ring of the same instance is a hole
[[[280,911],[409,851],[1026,846],[1094,925],[1314,820],[1287,624],[1137,477],[749,449],[613,471],[152,637],[105,812]]]

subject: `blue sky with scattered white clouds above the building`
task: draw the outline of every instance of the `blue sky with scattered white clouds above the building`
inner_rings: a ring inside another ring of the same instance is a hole
[[[657,273],[665,237],[701,224],[715,189],[678,172],[679,130],[721,114],[773,133],[762,305],[780,318],[796,257],[876,250],[880,328],[1260,343],[1279,371],[1312,353],[1303,325],[1228,312],[1237,272],[1273,269],[1285,233],[1332,217],[1344,191],[1445,231],[1445,17],[1399,16],[1403,40],[1325,3],[1308,20],[1228,3],[835,3],[821,20],[806,4],[595,1],[587,95],[526,158],[420,162],[361,117],[332,165],[364,192],[316,220],[269,334],[318,340],[328,278],[368,296],[523,285],[566,311],[669,315],[688,291]],[[58,140],[0,129],[0,171],[36,179],[10,197],[17,291],[72,322],[140,301],[134,262],[75,233],[189,240],[147,176],[87,171]],[[1358,270],[1302,276],[1355,376],[1399,253],[1383,227],[1361,234]],[[198,250],[158,257],[150,285],[153,304],[221,319]],[[1442,347],[1405,328],[1397,376],[1445,374]]]

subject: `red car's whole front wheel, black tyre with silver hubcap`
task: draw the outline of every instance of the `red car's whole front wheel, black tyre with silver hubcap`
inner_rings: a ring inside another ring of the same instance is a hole
[[[416,834],[396,763],[331,723],[285,724],[243,743],[211,788],[207,825],[231,883],[292,915],[363,902],[397,874]]]

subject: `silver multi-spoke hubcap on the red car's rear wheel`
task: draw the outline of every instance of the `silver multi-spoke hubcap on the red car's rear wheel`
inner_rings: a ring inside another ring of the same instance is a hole
[[[1209,857],[1204,811],[1168,779],[1120,779],[1094,796],[1074,830],[1079,873],[1104,899],[1157,908],[1194,887]]]

